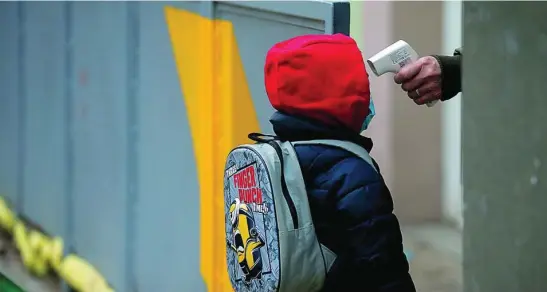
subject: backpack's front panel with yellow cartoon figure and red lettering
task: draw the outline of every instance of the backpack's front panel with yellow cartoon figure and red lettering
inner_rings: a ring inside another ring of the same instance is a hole
[[[274,291],[279,239],[268,171],[249,149],[229,155],[224,176],[228,274],[235,291]]]

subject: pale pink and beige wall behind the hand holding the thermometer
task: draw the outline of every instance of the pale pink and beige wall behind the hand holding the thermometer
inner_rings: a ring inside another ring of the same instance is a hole
[[[365,57],[403,39],[421,55],[442,51],[442,2],[352,3],[352,33]],[[361,13],[361,16],[357,16]],[[377,116],[367,130],[403,223],[441,218],[440,106],[416,106],[392,75],[371,75]]]

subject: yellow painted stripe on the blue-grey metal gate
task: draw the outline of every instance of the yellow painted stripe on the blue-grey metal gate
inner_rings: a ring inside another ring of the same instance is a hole
[[[226,266],[224,162],[259,131],[232,23],[166,7],[200,186],[201,274],[208,291],[232,291]]]

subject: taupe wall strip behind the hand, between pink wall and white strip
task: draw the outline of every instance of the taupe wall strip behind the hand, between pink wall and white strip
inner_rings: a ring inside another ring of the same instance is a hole
[[[442,51],[441,1],[393,3],[393,36],[403,39],[421,55]],[[416,106],[397,85],[393,106],[393,161],[398,215],[406,221],[441,218],[441,115]]]

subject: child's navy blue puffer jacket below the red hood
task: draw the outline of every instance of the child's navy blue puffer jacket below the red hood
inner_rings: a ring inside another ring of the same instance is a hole
[[[276,112],[270,121],[282,140],[339,139],[372,148],[369,138],[306,118]],[[319,241],[338,256],[323,291],[416,291],[382,176],[343,149],[295,148]]]

